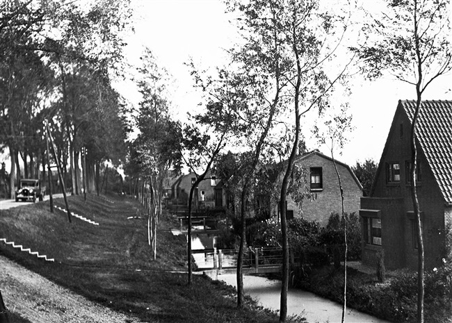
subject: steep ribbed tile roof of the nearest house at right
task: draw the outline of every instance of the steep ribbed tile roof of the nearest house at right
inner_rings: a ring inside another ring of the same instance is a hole
[[[416,101],[399,101],[412,122]],[[452,101],[422,101],[417,139],[446,203],[452,204]]]

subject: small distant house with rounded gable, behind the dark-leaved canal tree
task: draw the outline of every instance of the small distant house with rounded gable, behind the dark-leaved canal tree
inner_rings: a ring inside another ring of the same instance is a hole
[[[176,183],[175,192],[182,204],[188,204],[188,195],[190,194],[191,185],[196,181],[195,173],[183,175]],[[204,179],[197,186],[193,194],[193,203],[200,203],[200,206],[213,207],[215,206],[215,186],[217,184],[216,176],[211,175],[211,171],[207,172]]]

